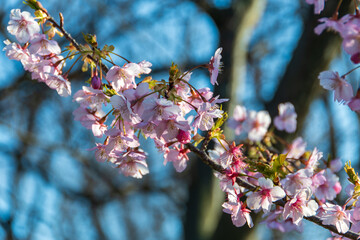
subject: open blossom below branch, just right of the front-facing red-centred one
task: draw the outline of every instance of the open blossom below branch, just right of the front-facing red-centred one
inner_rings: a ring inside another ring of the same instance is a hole
[[[309,217],[316,214],[319,205],[315,200],[309,200],[311,192],[308,189],[302,189],[285,204],[283,216],[285,219],[292,218],[294,224],[298,225],[303,217]]]

